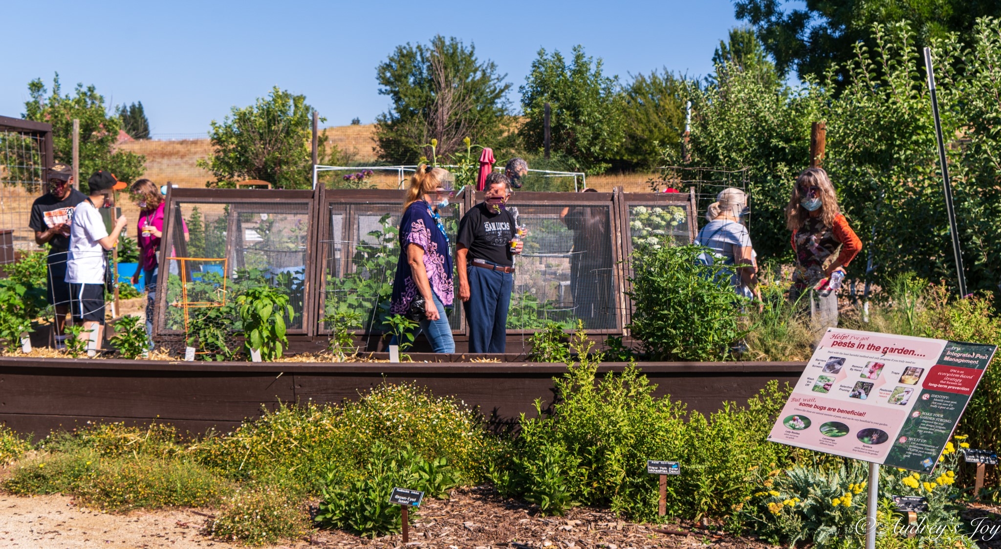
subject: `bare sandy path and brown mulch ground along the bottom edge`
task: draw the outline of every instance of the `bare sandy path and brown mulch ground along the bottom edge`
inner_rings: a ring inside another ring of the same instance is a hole
[[[114,515],[79,506],[68,496],[25,498],[0,494],[0,547],[231,547],[200,533],[210,514],[208,509],[169,509]],[[658,528],[690,532],[691,527],[638,525],[589,508],[574,509],[566,517],[541,517],[527,505],[502,500],[483,488],[456,490],[447,501],[426,500],[410,524],[409,546],[429,549],[772,547],[706,529],[694,535],[663,533]],[[402,547],[402,538],[394,535],[371,540],[347,532],[314,530],[308,538],[274,547],[395,548]]]

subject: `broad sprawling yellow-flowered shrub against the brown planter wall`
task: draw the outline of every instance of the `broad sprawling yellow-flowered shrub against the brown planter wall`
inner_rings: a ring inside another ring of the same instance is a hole
[[[444,458],[465,482],[483,478],[495,445],[481,418],[464,404],[408,384],[382,385],[337,405],[281,405],[225,436],[194,446],[197,459],[235,480],[278,471],[300,490],[317,493],[329,465],[349,476],[377,444],[406,441],[429,460]]]

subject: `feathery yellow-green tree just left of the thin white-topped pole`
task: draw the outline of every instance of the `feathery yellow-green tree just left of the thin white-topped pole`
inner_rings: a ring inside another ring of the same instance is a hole
[[[667,69],[663,73],[652,71],[650,76],[638,74],[623,90],[624,167],[657,167],[664,148],[680,153],[686,92],[684,78]]]

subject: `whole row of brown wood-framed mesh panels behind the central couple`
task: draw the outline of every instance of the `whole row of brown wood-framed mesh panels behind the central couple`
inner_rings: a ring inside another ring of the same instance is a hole
[[[160,249],[156,335],[177,340],[192,304],[219,304],[267,284],[290,296],[290,337],[325,340],[338,311],[377,348],[399,258],[403,191],[170,188]],[[461,216],[483,199],[460,190],[442,220],[455,242]],[[691,242],[696,193],[516,192],[508,202],[528,229],[516,257],[509,342],[555,322],[593,336],[624,335],[630,253],[641,242]],[[454,251],[454,250],[452,250]],[[225,289],[223,285],[225,284]],[[448,318],[457,341],[465,318],[456,296]],[[204,307],[202,305],[194,307]],[[195,312],[195,315],[204,314]],[[231,329],[237,319],[227,319]]]

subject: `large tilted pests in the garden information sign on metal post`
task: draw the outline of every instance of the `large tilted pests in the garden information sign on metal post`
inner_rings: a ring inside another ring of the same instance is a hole
[[[828,329],[768,439],[930,473],[996,351]]]

